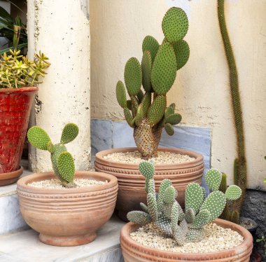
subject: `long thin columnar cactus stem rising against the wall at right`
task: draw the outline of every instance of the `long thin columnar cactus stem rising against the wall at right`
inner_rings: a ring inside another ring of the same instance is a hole
[[[239,200],[235,201],[232,205],[233,212],[238,212],[238,216],[241,211],[241,206],[244,202],[244,197],[246,193],[246,155],[245,155],[245,145],[244,145],[244,127],[243,118],[241,110],[241,99],[239,94],[239,82],[237,74],[237,66],[235,63],[235,57],[230,43],[230,38],[228,36],[228,29],[225,23],[225,10],[224,10],[224,0],[218,0],[218,20],[221,30],[221,35],[223,38],[223,45],[225,47],[225,55],[228,60],[228,67],[230,73],[230,91],[232,97],[232,109],[235,119],[235,130],[237,135],[237,158],[234,163],[234,177],[235,184],[239,186],[242,190],[242,195]]]

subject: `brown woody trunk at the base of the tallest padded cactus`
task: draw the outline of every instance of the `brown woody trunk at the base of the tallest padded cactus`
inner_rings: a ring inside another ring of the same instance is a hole
[[[158,144],[162,135],[162,127],[160,125],[151,126],[148,119],[141,120],[139,126],[134,127],[134,139],[138,151],[144,159],[157,156]]]

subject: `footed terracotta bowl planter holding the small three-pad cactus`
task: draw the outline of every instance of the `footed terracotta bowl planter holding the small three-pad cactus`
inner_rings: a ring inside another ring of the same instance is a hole
[[[84,188],[34,188],[33,181],[55,178],[53,172],[31,174],[18,181],[20,211],[39,239],[55,246],[92,242],[96,230],[106,223],[116,205],[118,181],[110,174],[77,171],[78,179],[108,181]]]

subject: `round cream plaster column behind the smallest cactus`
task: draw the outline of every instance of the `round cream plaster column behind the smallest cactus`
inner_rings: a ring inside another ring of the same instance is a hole
[[[51,66],[41,83],[31,124],[58,143],[66,123],[76,123],[78,137],[66,147],[76,170],[90,168],[90,21],[88,0],[28,0],[29,57],[41,50]],[[34,172],[52,169],[48,151],[30,148]]]

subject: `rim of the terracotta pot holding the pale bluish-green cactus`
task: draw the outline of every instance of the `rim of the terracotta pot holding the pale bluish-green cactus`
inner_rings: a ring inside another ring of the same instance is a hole
[[[232,247],[231,249],[226,249],[222,251],[215,251],[215,252],[209,252],[209,253],[180,253],[180,252],[172,252],[172,251],[164,251],[160,249],[154,249],[151,247],[145,247],[142,244],[139,244],[139,242],[135,241],[130,237],[130,233],[139,228],[139,225],[136,225],[132,222],[126,223],[125,226],[120,231],[120,242],[121,238],[126,244],[130,244],[131,247],[137,247],[137,250],[144,250],[145,254],[153,254],[154,252],[160,253],[160,257],[163,258],[183,258],[183,260],[193,261],[193,258],[195,256],[202,257],[204,260],[208,261],[213,258],[219,258],[219,257],[226,257],[228,256],[228,252],[230,252],[232,255],[237,255],[237,250],[243,250],[246,251],[249,243],[251,243],[251,249],[253,247],[253,237],[246,228],[237,225],[236,223],[232,223],[230,221],[226,221],[224,219],[215,219],[214,223],[216,223],[218,226],[222,226],[223,228],[231,228],[232,230],[237,231],[242,237],[244,237],[244,241],[239,244],[237,247]]]

